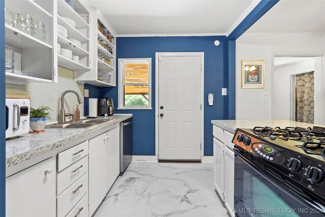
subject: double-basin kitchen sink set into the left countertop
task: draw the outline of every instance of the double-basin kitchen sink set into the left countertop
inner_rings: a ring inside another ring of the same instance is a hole
[[[76,121],[70,121],[65,123],[55,123],[54,125],[46,126],[45,128],[51,129],[51,128],[62,128],[62,129],[76,129],[76,128],[88,128],[91,126],[98,125],[100,123],[105,123],[108,121],[115,120],[115,118],[109,118],[109,119],[80,119]]]

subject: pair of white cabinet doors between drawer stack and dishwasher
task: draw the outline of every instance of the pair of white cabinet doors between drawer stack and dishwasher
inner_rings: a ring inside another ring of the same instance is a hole
[[[89,216],[119,174],[119,125],[89,140]]]

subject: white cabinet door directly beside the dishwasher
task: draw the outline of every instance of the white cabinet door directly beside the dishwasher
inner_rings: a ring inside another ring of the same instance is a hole
[[[111,188],[120,171],[120,128],[114,128],[108,132],[107,148],[107,190]]]

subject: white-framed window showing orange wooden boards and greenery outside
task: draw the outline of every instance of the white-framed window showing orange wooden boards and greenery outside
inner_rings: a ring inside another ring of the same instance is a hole
[[[118,108],[151,108],[151,58],[118,59]]]

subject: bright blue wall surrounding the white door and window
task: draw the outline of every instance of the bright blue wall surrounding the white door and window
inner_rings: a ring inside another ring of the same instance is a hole
[[[220,45],[215,46],[214,41]],[[229,96],[221,96],[221,88],[228,81],[228,40],[224,36],[206,37],[126,37],[117,38],[117,58],[152,58],[152,110],[116,110],[115,113],[132,113],[134,119],[135,155],[155,155],[155,53],[156,52],[204,52],[204,156],[213,155],[212,119],[228,119],[230,115],[229,99],[235,98],[232,91]],[[235,52],[235,50],[233,50]],[[235,54],[234,54],[235,55]],[[118,69],[116,70],[118,72]],[[227,82],[228,83],[228,82]],[[208,94],[214,94],[214,105],[208,105]],[[113,98],[115,108],[117,87],[101,88],[102,97]],[[233,115],[232,115],[233,116]]]

